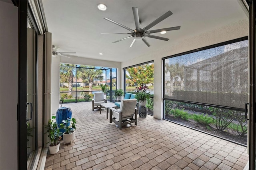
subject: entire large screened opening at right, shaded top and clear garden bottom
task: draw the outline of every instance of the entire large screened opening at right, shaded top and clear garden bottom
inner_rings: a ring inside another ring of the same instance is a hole
[[[164,119],[246,146],[248,40],[163,58]]]

